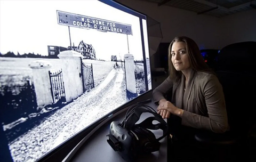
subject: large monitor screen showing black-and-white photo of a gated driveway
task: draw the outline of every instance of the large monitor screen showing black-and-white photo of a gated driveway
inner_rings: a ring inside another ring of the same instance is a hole
[[[151,90],[146,15],[110,0],[0,3],[0,143],[13,161]]]

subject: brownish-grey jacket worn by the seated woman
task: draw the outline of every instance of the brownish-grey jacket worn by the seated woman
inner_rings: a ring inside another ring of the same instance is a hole
[[[186,90],[184,86],[184,75],[177,84],[168,77],[153,91],[154,102],[158,104],[158,101],[164,99],[164,95],[172,89],[171,102],[185,110],[181,117],[182,125],[215,133],[229,130],[225,98],[217,76],[192,71]]]

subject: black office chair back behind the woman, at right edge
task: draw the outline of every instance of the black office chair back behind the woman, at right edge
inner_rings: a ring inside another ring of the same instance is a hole
[[[220,51],[217,76],[225,94],[231,131],[246,132],[255,123],[256,42],[228,45]]]

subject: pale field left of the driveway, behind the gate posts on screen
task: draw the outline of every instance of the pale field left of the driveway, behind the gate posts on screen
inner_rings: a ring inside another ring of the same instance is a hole
[[[51,63],[51,71],[61,69],[60,59],[38,59],[38,58],[0,58],[0,85],[21,84],[32,77],[32,69],[29,64],[35,60],[44,60]],[[83,60],[85,64],[93,66],[94,84],[98,85],[106,78],[114,66],[114,62]],[[33,80],[31,80],[33,82]]]

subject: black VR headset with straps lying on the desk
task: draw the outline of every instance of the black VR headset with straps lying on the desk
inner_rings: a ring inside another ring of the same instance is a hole
[[[135,124],[140,119],[143,112],[149,112],[150,116],[139,124]],[[153,124],[157,120],[158,124]],[[149,129],[162,129],[163,135],[156,139],[153,132]],[[109,139],[107,142],[115,151],[126,161],[135,161],[138,155],[158,151],[160,140],[168,133],[168,125],[161,115],[149,106],[134,106],[127,110],[122,123],[111,122]]]

